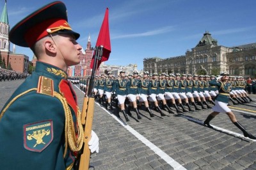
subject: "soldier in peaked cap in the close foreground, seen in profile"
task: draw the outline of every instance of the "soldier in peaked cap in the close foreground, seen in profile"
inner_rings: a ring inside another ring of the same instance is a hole
[[[60,1],[47,4],[15,25],[10,41],[35,53],[35,71],[0,112],[1,169],[72,169],[83,146],[83,126],[67,67],[79,64],[79,34]],[[92,131],[91,152],[99,152]]]

